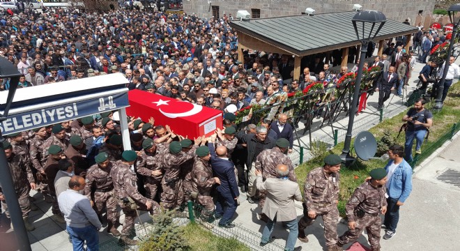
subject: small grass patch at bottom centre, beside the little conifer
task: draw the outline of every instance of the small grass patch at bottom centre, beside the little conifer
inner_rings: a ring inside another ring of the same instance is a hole
[[[190,245],[190,250],[194,251],[249,251],[243,243],[234,238],[222,238],[204,229],[200,225],[190,223],[184,227],[185,239]]]

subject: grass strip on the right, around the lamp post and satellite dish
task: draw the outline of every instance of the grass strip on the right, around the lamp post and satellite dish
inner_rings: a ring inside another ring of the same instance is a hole
[[[452,126],[454,123],[460,122],[460,82],[454,84],[450,87],[449,95],[447,96],[444,107],[440,112],[433,112],[433,126],[430,128],[429,138],[422,145],[422,154],[424,149],[433,149],[433,146],[439,144],[438,139],[445,137],[446,134],[452,133]],[[425,105],[425,108],[430,109],[434,106],[434,102],[430,102]],[[397,138],[399,128],[401,128],[403,122],[401,121],[402,117],[408,111],[410,107],[401,111],[397,116],[392,117],[391,119],[385,119],[382,123],[379,123],[377,126],[374,126],[369,131],[376,137],[377,141],[383,137],[385,132],[390,132],[390,137],[394,139],[396,144],[401,144],[404,146],[405,135],[404,132],[401,132],[401,135]],[[457,128],[460,127],[460,124]],[[459,129],[457,129],[459,130]],[[351,146],[353,146],[354,138],[352,139]],[[415,142],[413,144],[415,148]],[[323,155],[329,153],[335,153],[340,155],[342,149],[344,148],[344,142],[340,142],[330,151],[325,152]],[[415,150],[413,150],[413,153]],[[369,160],[362,161],[357,160],[354,165],[351,167],[342,167],[340,170],[340,192],[339,192],[339,212],[342,217],[345,216],[345,204],[348,199],[353,194],[355,188],[358,187],[361,183],[364,182],[365,178],[369,176],[371,169],[378,167],[385,167],[386,162],[381,160]],[[303,194],[303,188],[305,184],[305,178],[307,174],[316,167],[323,166],[323,158],[314,158],[308,162],[304,162],[302,165],[296,168],[296,175],[298,178],[298,183],[300,186],[300,191]]]

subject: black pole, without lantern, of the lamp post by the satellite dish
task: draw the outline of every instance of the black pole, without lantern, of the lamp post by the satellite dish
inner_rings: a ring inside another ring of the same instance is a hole
[[[349,157],[350,145],[351,145],[351,132],[353,131],[353,122],[355,121],[356,106],[358,105],[358,98],[360,95],[360,86],[361,86],[361,77],[362,77],[362,68],[364,67],[364,61],[367,52],[367,45],[369,41],[361,40],[361,55],[360,55],[360,65],[358,66],[358,73],[355,80],[355,89],[353,91],[353,100],[350,107],[350,118],[348,119],[348,128],[346,129],[346,136],[344,142],[344,149],[342,150],[342,155],[340,156],[342,160],[346,160]]]

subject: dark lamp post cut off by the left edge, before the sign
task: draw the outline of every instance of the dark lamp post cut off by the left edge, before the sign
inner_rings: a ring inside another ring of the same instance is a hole
[[[17,89],[17,84],[19,83],[21,73],[13,66],[10,61],[0,57],[0,77],[10,78],[10,89],[8,89],[8,98],[6,98],[6,103],[3,106],[3,114],[0,114],[0,121],[4,121],[8,118],[8,111],[10,110],[11,103],[13,102],[13,97]],[[0,100],[3,102],[3,100]],[[3,139],[0,131],[0,146],[3,145]],[[24,226],[24,221],[22,220],[22,211],[17,201],[15,187],[13,185],[13,178],[11,178],[10,168],[8,167],[8,160],[6,160],[5,150],[3,147],[0,147],[0,183],[3,190],[3,195],[5,195],[6,204],[8,204],[8,212],[10,213],[11,222],[15,229],[15,236],[17,239],[17,248],[21,251],[31,250],[29,243],[29,236],[27,236],[26,227]]]

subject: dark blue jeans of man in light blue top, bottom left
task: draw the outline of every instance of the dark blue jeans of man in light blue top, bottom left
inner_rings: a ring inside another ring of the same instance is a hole
[[[67,226],[67,232],[72,238],[73,251],[84,251],[85,241],[86,251],[99,250],[99,234],[93,225],[81,228]]]

